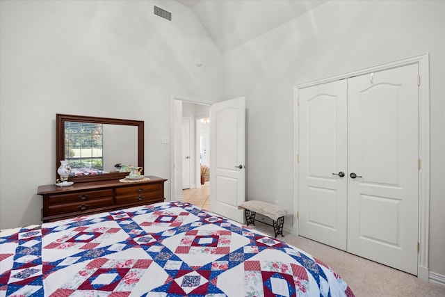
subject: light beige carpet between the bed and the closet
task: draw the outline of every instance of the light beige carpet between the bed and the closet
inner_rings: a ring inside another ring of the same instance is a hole
[[[274,236],[273,227],[262,223],[250,225]],[[445,297],[445,288],[419,280],[416,276],[398,271],[362,257],[337,250],[322,243],[294,234],[278,235],[278,239],[305,250],[336,271],[349,284],[357,297]]]

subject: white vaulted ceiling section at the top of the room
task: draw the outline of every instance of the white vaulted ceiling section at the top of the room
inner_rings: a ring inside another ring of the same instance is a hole
[[[177,0],[193,10],[222,53],[328,0]]]

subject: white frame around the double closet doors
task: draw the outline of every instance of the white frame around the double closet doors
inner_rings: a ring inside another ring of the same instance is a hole
[[[298,89],[307,88],[309,86],[316,86],[321,83],[336,81],[339,79],[346,79],[362,74],[369,74],[382,70],[391,69],[394,67],[401,67],[419,63],[419,158],[421,160],[421,168],[419,170],[419,254],[418,254],[418,274],[417,278],[428,282],[429,267],[428,267],[428,248],[429,248],[429,230],[430,230],[430,77],[429,77],[429,54],[414,56],[406,58],[401,61],[378,65],[375,67],[366,68],[364,70],[357,70],[347,74],[341,74],[336,77],[327,79],[320,79],[318,81],[311,81],[308,83],[296,84],[293,86],[293,210],[298,213]],[[294,216],[294,232],[298,234],[298,218]]]

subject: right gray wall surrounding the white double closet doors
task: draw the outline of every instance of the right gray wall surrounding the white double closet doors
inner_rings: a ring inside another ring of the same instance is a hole
[[[293,209],[293,85],[426,53],[429,263],[445,278],[444,1],[330,1],[225,54],[226,95],[248,109],[248,199]]]

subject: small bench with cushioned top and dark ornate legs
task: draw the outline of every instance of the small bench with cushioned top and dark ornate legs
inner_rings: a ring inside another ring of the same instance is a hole
[[[259,200],[250,200],[239,204],[238,209],[245,210],[245,220],[247,225],[250,224],[255,225],[254,223],[255,214],[257,213],[262,214],[263,216],[267,216],[268,218],[271,218],[273,220],[272,226],[273,226],[273,231],[275,232],[275,237],[277,237],[277,234],[281,234],[281,236],[284,237],[283,235],[284,216],[290,214],[284,207]],[[270,225],[268,223],[264,224]]]

